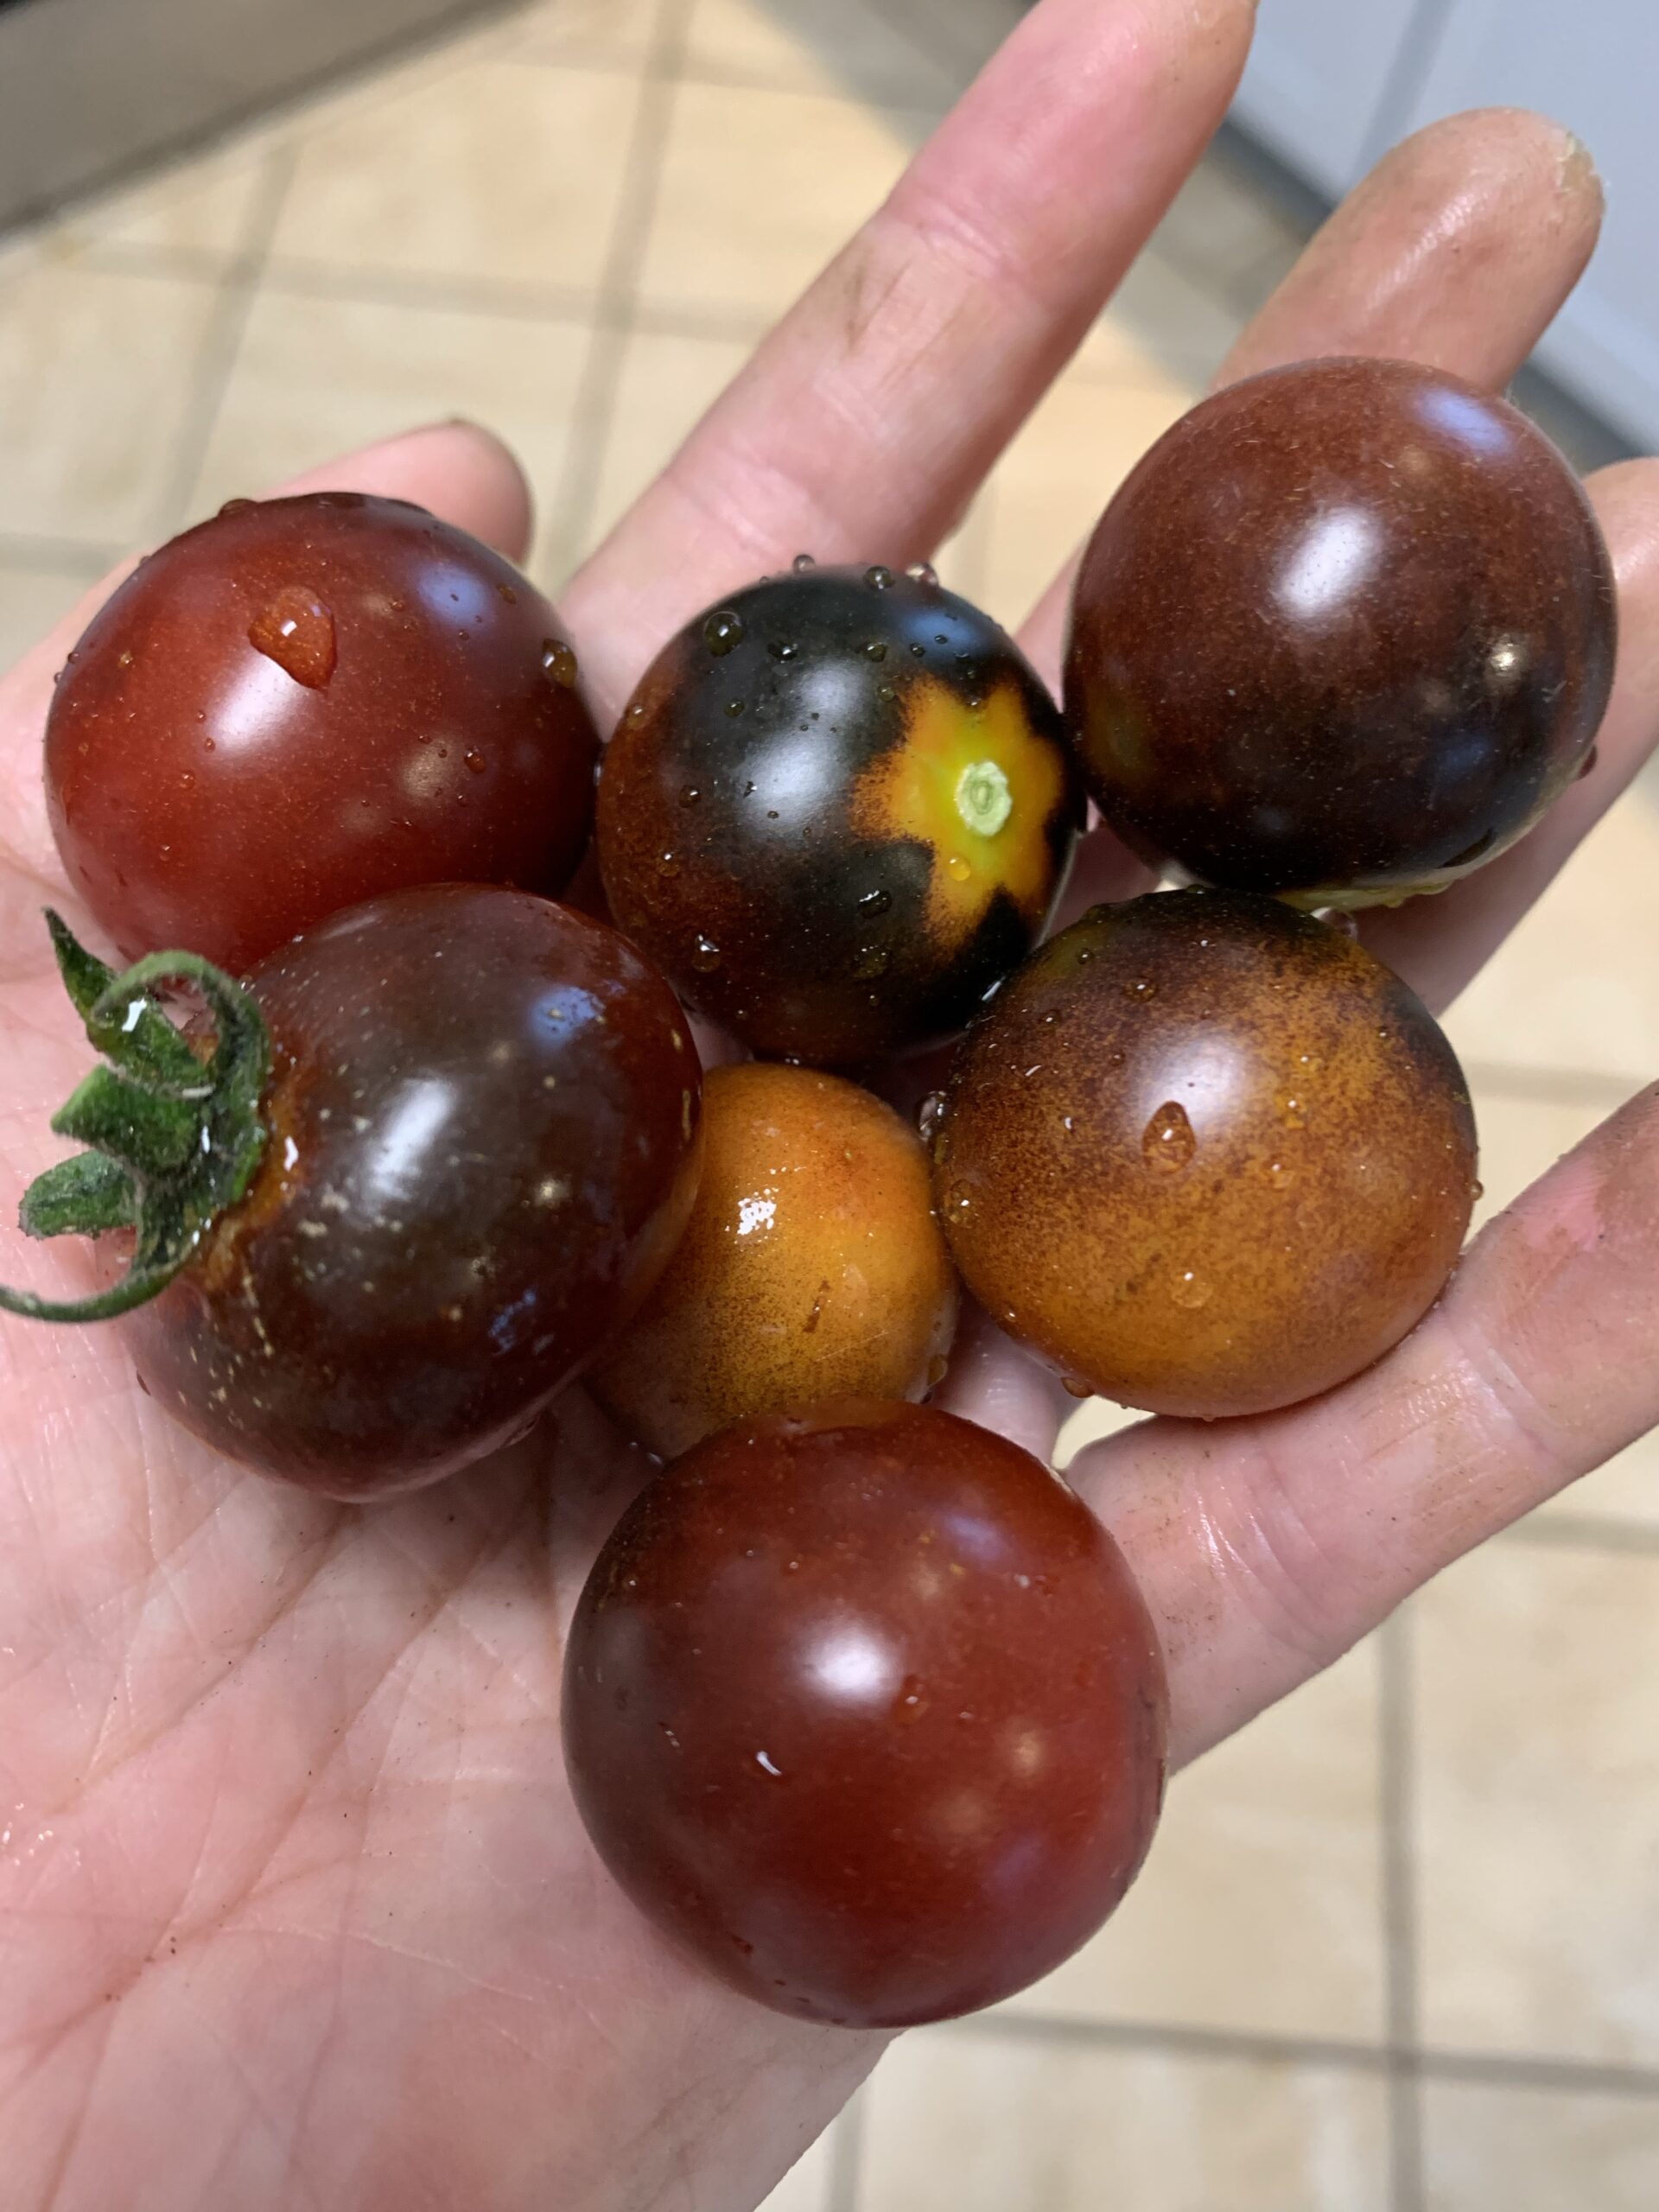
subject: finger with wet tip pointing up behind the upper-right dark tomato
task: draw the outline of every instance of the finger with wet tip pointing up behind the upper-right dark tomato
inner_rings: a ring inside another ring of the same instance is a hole
[[[1387,354],[1500,387],[1577,283],[1599,228],[1601,181],[1571,131],[1524,108],[1429,124],[1349,192],[1217,383],[1316,354]],[[1055,688],[1077,560],[1020,635]],[[1148,874],[1110,832],[1095,832],[1077,883],[1093,898],[1128,898]]]

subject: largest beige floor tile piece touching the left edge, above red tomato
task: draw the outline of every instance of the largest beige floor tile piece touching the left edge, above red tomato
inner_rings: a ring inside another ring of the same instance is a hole
[[[124,542],[166,487],[217,292],[24,268],[0,292],[0,529]]]

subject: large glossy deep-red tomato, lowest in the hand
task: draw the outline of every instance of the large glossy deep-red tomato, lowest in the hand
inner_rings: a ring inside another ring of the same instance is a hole
[[[1042,1462],[931,1407],[741,1422],[664,1471],[571,1628],[599,1856],[783,2013],[909,2026],[1082,1944],[1157,1825],[1164,1661]]]

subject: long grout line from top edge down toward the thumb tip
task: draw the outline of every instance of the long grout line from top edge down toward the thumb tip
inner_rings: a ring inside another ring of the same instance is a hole
[[[611,447],[622,365],[635,327],[639,272],[657,219],[668,124],[686,58],[690,9],[692,0],[659,0],[650,53],[641,69],[622,199],[599,279],[588,356],[571,409],[571,442],[553,498],[557,557],[566,568],[588,551],[586,540],[599,498],[599,473]]]

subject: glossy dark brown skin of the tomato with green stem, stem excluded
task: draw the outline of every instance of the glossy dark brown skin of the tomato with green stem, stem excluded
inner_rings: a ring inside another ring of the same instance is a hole
[[[150,1396],[332,1498],[436,1482],[628,1321],[695,1197],[699,1068],[613,929],[429,885],[261,962],[270,1139],[126,1323]]]

